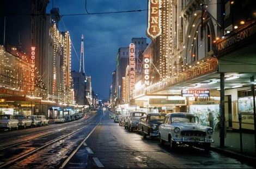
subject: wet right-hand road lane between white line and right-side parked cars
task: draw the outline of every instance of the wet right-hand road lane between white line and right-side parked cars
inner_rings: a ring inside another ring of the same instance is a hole
[[[253,168],[233,158],[194,147],[178,147],[143,139],[114,123],[108,114],[65,168]]]

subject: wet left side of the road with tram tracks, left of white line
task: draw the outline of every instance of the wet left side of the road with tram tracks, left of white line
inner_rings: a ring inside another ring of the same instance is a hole
[[[65,124],[0,132],[0,168],[57,168],[99,123],[102,111]]]

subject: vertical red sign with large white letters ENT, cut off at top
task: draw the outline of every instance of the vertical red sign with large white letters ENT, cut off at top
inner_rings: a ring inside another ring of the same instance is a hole
[[[161,0],[149,0],[148,2],[148,29],[147,35],[155,40],[161,34]]]

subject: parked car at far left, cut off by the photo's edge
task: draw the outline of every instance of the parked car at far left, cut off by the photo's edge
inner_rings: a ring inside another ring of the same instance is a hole
[[[13,115],[5,114],[0,115],[0,128],[8,129],[9,131],[12,129],[18,129],[18,120],[13,118]]]

